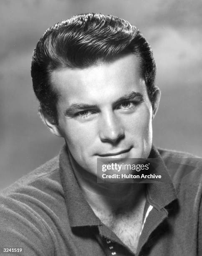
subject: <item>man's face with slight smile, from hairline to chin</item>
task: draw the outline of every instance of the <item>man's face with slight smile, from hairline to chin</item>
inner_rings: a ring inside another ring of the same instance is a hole
[[[59,132],[74,160],[96,174],[97,158],[147,158],[152,105],[135,55],[83,69],[57,69]]]

